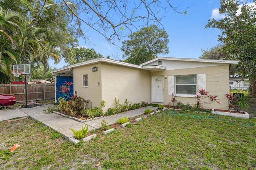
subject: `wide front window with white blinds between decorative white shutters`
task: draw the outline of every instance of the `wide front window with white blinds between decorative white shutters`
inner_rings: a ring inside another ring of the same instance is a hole
[[[197,92],[196,74],[175,76],[176,94],[195,94]]]

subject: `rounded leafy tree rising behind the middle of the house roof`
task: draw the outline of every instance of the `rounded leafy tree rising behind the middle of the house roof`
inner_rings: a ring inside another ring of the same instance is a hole
[[[125,62],[142,64],[152,60],[158,54],[168,54],[168,35],[156,25],[143,27],[128,36],[129,40],[122,42],[121,50],[124,52]]]

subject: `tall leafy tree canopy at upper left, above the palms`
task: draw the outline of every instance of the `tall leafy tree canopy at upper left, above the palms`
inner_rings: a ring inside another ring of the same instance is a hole
[[[72,14],[62,2],[54,0],[2,0],[5,10],[18,12],[31,28],[45,29],[44,41],[50,42],[51,51],[61,55],[76,45],[78,30],[70,25]]]

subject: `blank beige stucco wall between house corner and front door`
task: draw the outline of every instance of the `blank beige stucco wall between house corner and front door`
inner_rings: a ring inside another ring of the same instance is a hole
[[[106,109],[115,106],[114,98],[123,104],[150,102],[150,73],[146,70],[102,63],[102,100]]]

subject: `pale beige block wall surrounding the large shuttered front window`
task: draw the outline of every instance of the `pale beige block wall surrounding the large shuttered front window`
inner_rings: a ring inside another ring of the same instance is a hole
[[[220,104],[214,102],[212,104],[203,104],[205,109],[228,109],[228,100],[225,94],[229,92],[229,64],[223,64],[220,66],[207,66],[198,68],[186,68],[186,69],[176,69],[176,70],[164,70],[158,72],[150,72],[150,76],[167,76],[164,80],[164,104],[168,105],[172,100],[172,95],[168,95],[168,76],[176,75],[186,75],[186,74],[206,74],[206,91],[211,95],[218,95],[218,100]],[[152,96],[151,96],[152,100]],[[176,97],[176,100],[187,104],[197,103],[195,97]],[[208,102],[208,99],[203,101]]]

